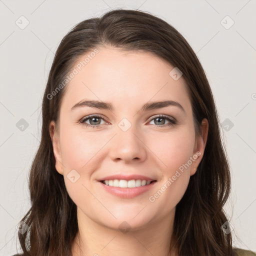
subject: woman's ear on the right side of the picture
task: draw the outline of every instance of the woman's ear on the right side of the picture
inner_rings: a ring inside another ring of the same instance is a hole
[[[206,118],[203,118],[200,125],[201,135],[198,135],[195,138],[193,159],[195,158],[196,159],[192,162],[192,165],[190,168],[190,175],[193,175],[196,172],[197,166],[199,165],[202,159],[204,148],[207,141],[207,136],[208,136],[208,128],[209,128],[208,120]]]

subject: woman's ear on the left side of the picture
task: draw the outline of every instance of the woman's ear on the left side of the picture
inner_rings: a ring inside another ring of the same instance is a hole
[[[60,150],[59,134],[58,132],[56,132],[56,124],[54,121],[51,121],[49,124],[49,132],[55,158],[55,168],[59,174],[63,175],[63,164]]]

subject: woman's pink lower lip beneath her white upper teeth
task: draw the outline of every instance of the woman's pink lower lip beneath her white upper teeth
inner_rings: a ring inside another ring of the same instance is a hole
[[[99,185],[101,185],[107,192],[114,194],[121,198],[133,198],[139,194],[142,194],[148,191],[150,188],[154,186],[156,181],[144,186],[136,186],[136,187],[118,187],[118,186],[109,186],[104,183],[98,181]]]

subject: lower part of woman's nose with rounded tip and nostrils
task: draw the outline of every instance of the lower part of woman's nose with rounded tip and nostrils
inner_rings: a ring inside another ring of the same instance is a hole
[[[109,144],[109,156],[113,161],[144,161],[146,158],[146,145],[144,136],[133,126],[123,131],[117,127],[116,135]]]

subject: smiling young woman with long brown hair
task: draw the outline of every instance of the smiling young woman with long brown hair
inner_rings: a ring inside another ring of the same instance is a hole
[[[199,60],[115,9],[60,42],[42,102],[23,255],[256,255],[232,248],[230,173]]]

